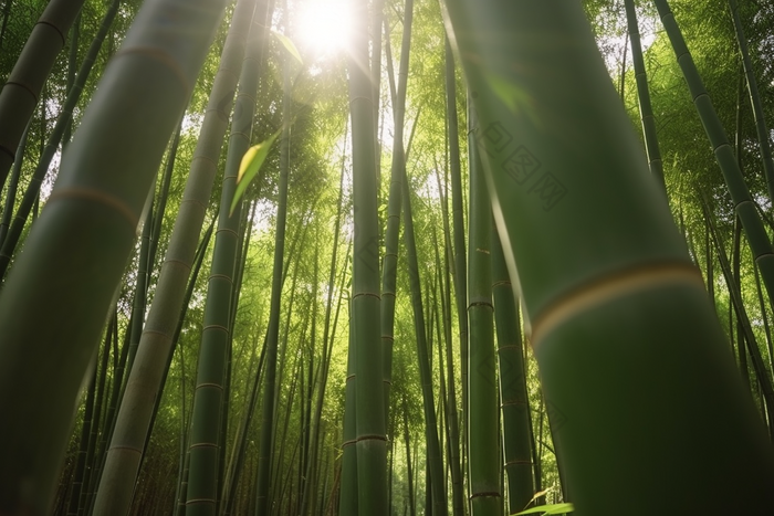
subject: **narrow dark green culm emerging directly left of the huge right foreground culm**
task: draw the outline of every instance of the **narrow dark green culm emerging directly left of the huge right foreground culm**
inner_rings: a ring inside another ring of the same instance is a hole
[[[524,347],[519,305],[496,228],[492,227],[492,296],[498,336],[498,366],[502,403],[503,449],[508,474],[508,512],[526,507],[534,495],[530,403],[524,375]]]

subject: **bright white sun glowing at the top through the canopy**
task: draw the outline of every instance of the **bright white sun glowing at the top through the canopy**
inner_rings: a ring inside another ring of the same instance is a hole
[[[347,0],[306,0],[301,4],[295,38],[315,56],[345,50],[352,28]]]

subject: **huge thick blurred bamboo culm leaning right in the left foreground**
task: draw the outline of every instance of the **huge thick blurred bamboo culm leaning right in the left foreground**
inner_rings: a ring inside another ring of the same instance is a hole
[[[143,6],[67,148],[24,259],[8,276],[0,412],[25,424],[0,429],[0,513],[48,514],[79,389],[223,9],[212,0]]]

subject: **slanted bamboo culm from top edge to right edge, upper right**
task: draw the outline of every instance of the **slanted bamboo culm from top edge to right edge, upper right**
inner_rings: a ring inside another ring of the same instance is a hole
[[[744,182],[739,161],[734,156],[733,148],[729,144],[729,138],[718,117],[712,99],[707,93],[704,83],[693,63],[693,57],[691,57],[691,53],[682,38],[682,31],[680,31],[674,20],[674,14],[672,14],[667,0],[653,0],[653,3],[661,17],[661,23],[669,36],[669,41],[672,43],[674,55],[686,77],[686,82],[688,83],[693,104],[695,105],[701,123],[712,145],[715,160],[723,172],[725,185],[729,188],[729,193],[734,204],[734,212],[742,221],[744,235],[753,252],[753,260],[761,271],[763,285],[766,287],[766,293],[768,294],[768,302],[772,307],[774,307],[774,248],[768,240],[766,230],[757,213],[755,202],[750,196],[750,190]]]

